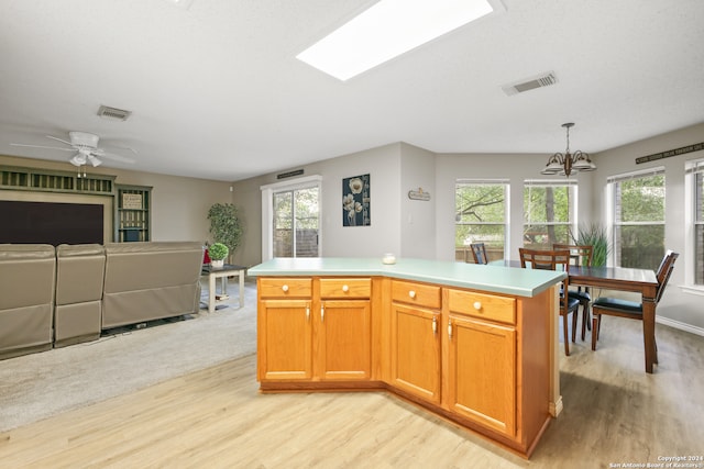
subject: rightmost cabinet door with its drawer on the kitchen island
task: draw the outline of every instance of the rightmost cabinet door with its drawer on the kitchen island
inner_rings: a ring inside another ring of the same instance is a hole
[[[518,403],[516,300],[452,289],[447,294],[446,405],[514,438]]]

